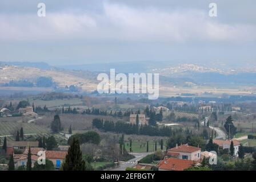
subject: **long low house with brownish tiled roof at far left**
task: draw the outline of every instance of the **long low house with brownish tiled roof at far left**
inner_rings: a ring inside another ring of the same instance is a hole
[[[7,141],[6,154],[11,155],[14,150],[25,151],[26,147],[38,147],[38,142],[27,142],[27,141]]]

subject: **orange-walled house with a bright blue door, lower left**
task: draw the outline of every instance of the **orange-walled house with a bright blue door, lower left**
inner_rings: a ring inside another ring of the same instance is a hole
[[[55,168],[59,169],[63,160],[66,159],[67,151],[46,151],[45,156],[46,159],[51,160],[53,162]]]

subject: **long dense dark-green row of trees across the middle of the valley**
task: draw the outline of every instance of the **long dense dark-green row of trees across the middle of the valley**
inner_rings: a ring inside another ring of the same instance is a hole
[[[111,131],[114,133],[124,133],[124,134],[137,134],[137,135],[149,135],[149,136],[161,136],[170,137],[172,133],[175,132],[188,132],[189,129],[185,131],[182,129],[173,130],[171,127],[167,126],[151,126],[151,125],[141,125],[138,126],[132,123],[123,122],[113,122],[99,118],[93,119],[93,127],[102,131]]]

